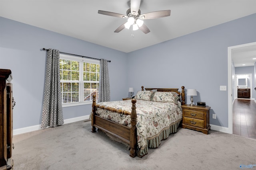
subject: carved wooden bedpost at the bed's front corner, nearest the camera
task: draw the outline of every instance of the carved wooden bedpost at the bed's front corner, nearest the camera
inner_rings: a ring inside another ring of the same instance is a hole
[[[143,87],[143,86],[142,86]],[[136,113],[136,99],[132,99],[132,112],[131,112],[131,128],[130,128],[130,156],[135,157],[136,156],[136,150],[137,150],[137,113]]]

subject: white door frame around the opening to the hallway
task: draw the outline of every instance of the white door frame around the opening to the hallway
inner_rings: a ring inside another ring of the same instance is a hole
[[[256,46],[256,42],[228,47],[228,130],[227,130],[227,133],[231,133],[231,134],[233,134],[232,50],[243,48],[243,47],[250,47],[250,46]]]

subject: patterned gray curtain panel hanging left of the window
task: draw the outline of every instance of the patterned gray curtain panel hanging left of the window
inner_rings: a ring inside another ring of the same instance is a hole
[[[60,53],[48,49],[44,84],[44,105],[41,128],[64,123],[60,93]]]

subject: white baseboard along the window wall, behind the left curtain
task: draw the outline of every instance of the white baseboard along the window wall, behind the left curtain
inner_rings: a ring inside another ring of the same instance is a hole
[[[86,119],[89,119],[89,116],[90,115],[85,115],[85,116],[80,116],[80,117],[74,117],[74,118],[71,118],[71,119],[65,119],[64,124],[73,123],[73,122],[81,121],[81,120],[86,120]],[[14,129],[13,130],[13,135],[19,135],[19,134],[22,134],[22,133],[37,131],[37,130],[40,130],[40,129],[41,129],[41,124],[40,125],[29,126],[29,127],[23,127],[23,128],[20,128],[20,129]]]

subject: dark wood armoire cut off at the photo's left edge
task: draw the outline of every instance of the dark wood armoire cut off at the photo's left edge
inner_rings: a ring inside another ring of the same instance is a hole
[[[12,160],[12,72],[0,69],[0,170],[10,170]]]

